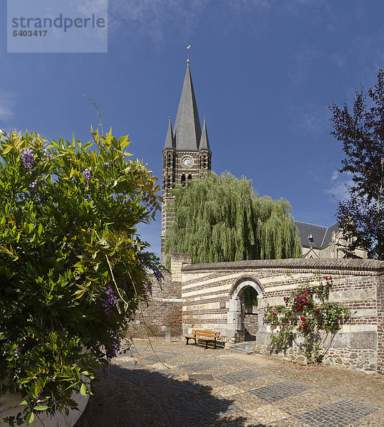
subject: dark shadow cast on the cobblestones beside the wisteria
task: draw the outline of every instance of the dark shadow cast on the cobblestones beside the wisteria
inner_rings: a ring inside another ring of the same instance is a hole
[[[114,427],[265,427],[241,416],[230,399],[212,396],[212,388],[182,381],[167,371],[138,369],[132,363],[113,365],[110,377],[95,385],[90,426]]]

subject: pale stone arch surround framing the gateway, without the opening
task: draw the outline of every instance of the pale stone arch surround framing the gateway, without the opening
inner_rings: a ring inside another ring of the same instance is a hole
[[[242,295],[246,288],[254,288],[257,292],[257,327],[256,330],[261,330],[263,327],[263,318],[259,316],[259,307],[261,306],[261,299],[263,297],[263,291],[259,283],[251,278],[242,278],[232,288],[231,299],[229,300],[229,312],[228,312],[228,332],[229,336],[234,339],[234,342],[244,341],[244,302],[242,301]],[[255,334],[256,335],[256,334]],[[256,339],[256,337],[255,337]]]

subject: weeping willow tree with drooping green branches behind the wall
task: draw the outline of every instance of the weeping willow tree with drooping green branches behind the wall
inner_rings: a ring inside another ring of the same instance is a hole
[[[190,253],[192,263],[301,258],[301,241],[288,201],[259,197],[251,181],[213,172],[173,190],[170,253]]]

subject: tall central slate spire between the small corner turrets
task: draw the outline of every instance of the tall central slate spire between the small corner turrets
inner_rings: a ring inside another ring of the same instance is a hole
[[[175,147],[178,151],[197,151],[202,135],[199,114],[197,112],[196,98],[192,85],[190,64],[187,63],[182,95],[175,121]]]

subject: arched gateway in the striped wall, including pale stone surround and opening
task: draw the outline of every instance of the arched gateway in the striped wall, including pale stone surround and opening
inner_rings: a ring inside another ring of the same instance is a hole
[[[232,288],[229,300],[228,328],[235,342],[255,341],[263,319],[259,307],[263,292],[251,278],[239,280]]]

